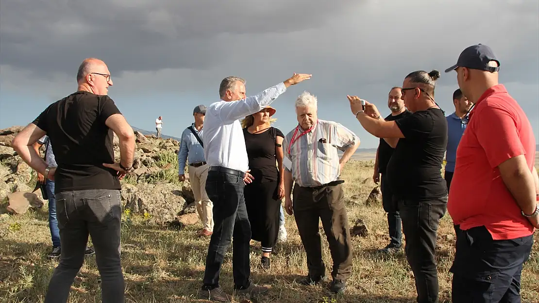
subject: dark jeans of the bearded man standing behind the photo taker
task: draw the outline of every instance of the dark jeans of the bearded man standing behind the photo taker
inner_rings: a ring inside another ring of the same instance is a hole
[[[402,246],[402,221],[400,220],[400,214],[398,212],[397,200],[393,199],[393,191],[386,179],[385,173],[382,174],[380,189],[382,191],[382,207],[384,212],[388,213],[388,227],[389,227],[389,247],[400,248]]]

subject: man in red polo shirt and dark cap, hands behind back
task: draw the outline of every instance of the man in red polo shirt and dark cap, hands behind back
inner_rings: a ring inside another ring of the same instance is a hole
[[[475,103],[457,149],[447,209],[460,226],[453,302],[520,302],[522,264],[539,228],[535,137],[519,104],[498,83],[500,62],[486,45],[460,54],[462,93]]]

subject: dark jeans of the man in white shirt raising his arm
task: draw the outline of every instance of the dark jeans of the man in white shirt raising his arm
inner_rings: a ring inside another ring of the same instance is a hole
[[[203,290],[219,287],[219,273],[232,239],[234,289],[250,286],[251,224],[245,208],[243,175],[208,171],[206,193],[213,202],[213,234],[206,256]]]

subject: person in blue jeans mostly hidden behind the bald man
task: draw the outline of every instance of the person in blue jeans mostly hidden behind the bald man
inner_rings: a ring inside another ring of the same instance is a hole
[[[51,142],[49,136],[45,135],[39,139],[36,143],[33,144],[33,149],[37,154],[39,153],[39,146],[45,145],[45,163],[50,167],[57,167],[56,159],[54,158],[54,153],[52,152]],[[54,181],[50,179],[45,179],[45,177],[37,173],[37,181],[41,184],[45,184],[45,191],[47,198],[49,200],[49,229],[51,230],[51,239],[52,239],[52,251],[47,255],[49,258],[58,258],[61,254],[60,249],[60,229],[58,228],[58,219],[56,216],[56,199],[54,199]],[[85,255],[93,255],[95,251],[88,246],[86,246]]]

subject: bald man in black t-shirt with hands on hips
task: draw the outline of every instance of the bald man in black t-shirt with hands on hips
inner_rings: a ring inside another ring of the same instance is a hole
[[[135,135],[107,96],[112,80],[105,62],[82,61],[77,82],[77,92],[49,105],[11,144],[28,165],[55,181],[62,249],[45,303],[67,302],[88,234],[101,274],[102,302],[123,302],[120,179],[132,167]],[[120,139],[119,163],[114,163],[113,131]],[[57,167],[47,165],[32,148],[44,135],[49,136]]]

